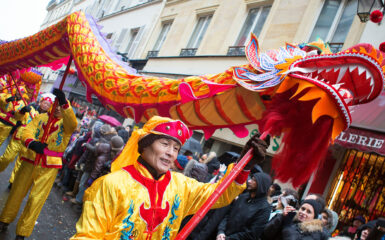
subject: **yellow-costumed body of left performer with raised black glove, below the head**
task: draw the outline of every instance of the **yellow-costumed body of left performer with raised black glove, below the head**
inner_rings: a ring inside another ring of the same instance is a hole
[[[17,223],[18,240],[31,235],[58,169],[62,166],[61,156],[77,126],[75,114],[64,93],[55,89],[54,95],[60,106],[52,109],[55,112],[47,140],[39,141],[49,120],[47,113],[35,117],[23,130],[21,139],[29,149],[21,156],[23,162],[0,215],[0,231],[5,231],[8,224],[16,218],[20,204],[31,188],[27,204]]]

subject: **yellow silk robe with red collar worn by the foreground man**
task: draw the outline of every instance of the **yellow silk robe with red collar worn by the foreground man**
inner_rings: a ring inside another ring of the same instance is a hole
[[[248,171],[242,171],[213,208],[230,204],[245,189],[247,176]],[[136,162],[98,179],[87,190],[77,234],[71,239],[174,239],[183,218],[194,214],[218,184],[170,171],[154,180]]]

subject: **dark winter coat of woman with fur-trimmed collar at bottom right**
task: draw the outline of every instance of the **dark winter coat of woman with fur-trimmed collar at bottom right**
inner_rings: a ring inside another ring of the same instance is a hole
[[[319,219],[292,222],[282,214],[278,214],[266,225],[261,239],[326,240],[328,236],[323,230],[322,221]]]

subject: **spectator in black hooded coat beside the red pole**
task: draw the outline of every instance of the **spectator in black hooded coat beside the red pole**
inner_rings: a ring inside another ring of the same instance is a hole
[[[258,239],[269,220],[267,192],[271,177],[257,172],[247,181],[248,192],[239,195],[218,226],[217,240]]]

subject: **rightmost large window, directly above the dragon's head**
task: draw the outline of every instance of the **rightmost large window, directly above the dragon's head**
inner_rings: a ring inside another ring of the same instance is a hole
[[[356,11],[357,0],[326,0],[309,41],[320,37],[332,47],[337,44],[342,48]]]

